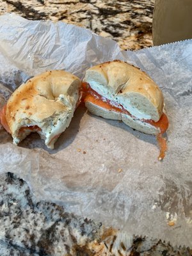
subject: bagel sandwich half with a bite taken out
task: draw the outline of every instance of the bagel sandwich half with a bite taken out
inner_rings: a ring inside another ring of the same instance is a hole
[[[21,84],[3,107],[0,120],[19,144],[38,132],[48,148],[67,129],[81,95],[81,80],[63,70],[47,71]]]

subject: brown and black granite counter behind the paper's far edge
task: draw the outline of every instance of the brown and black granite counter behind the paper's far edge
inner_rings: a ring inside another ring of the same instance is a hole
[[[154,0],[3,0],[0,14],[62,20],[116,40],[122,49],[152,46]]]

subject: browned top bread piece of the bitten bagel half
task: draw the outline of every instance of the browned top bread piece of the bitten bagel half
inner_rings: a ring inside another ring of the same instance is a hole
[[[67,111],[67,106],[74,96],[72,104],[76,104],[81,80],[63,70],[47,71],[21,84],[6,104],[6,122],[13,134],[25,120],[42,122],[61,111]],[[75,94],[74,94],[75,93]]]

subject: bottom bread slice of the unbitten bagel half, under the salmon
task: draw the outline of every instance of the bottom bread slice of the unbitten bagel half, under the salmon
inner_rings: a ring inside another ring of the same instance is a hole
[[[146,122],[142,122],[141,120],[137,120],[132,118],[132,116],[126,115],[124,113],[116,112],[113,110],[108,110],[105,108],[101,108],[92,102],[86,101],[85,106],[93,115],[102,116],[106,119],[112,120],[120,120],[124,122],[126,125],[129,125],[132,129],[136,129],[137,131],[144,132],[146,134],[158,134],[160,129],[150,125]]]

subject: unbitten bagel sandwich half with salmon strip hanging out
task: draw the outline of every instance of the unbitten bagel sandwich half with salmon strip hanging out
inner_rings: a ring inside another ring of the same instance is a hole
[[[168,129],[163,93],[140,68],[120,60],[88,68],[83,83],[84,103],[93,115],[121,120],[133,129],[157,136],[163,159]]]

